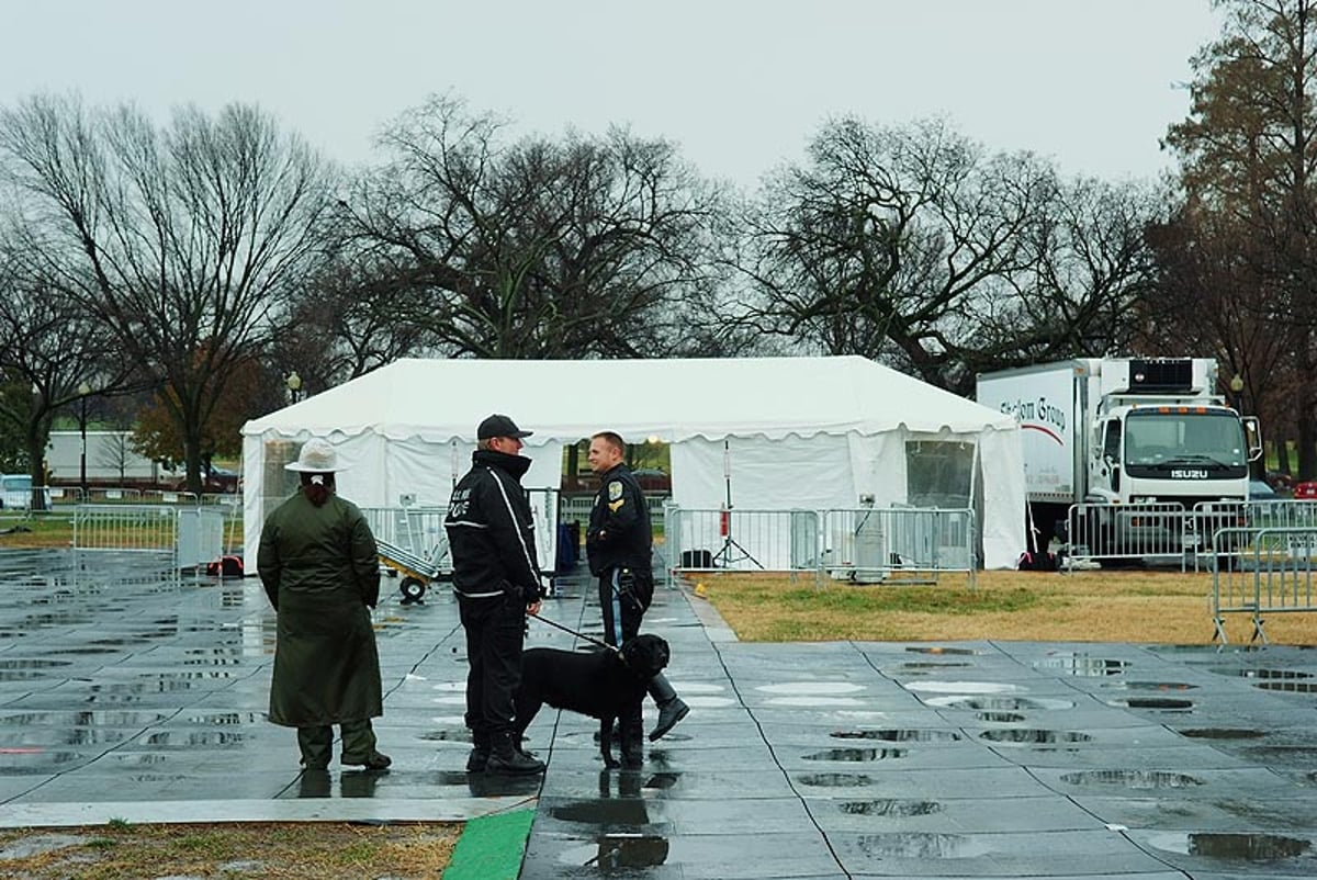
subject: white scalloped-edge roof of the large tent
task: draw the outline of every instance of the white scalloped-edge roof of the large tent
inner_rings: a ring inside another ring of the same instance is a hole
[[[479,361],[404,358],[270,415],[244,435],[474,441],[506,412],[528,444],[627,439],[977,432],[1014,419],[863,357]]]

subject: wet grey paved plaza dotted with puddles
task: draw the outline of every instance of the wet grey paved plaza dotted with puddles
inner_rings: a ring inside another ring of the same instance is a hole
[[[1317,875],[1317,651],[748,644],[660,590],[645,630],[691,714],[636,772],[603,769],[593,721],[545,709],[541,784],[462,772],[456,606],[394,591],[375,613],[394,767],[303,776],[292,731],[263,718],[255,578],[94,568],[0,552],[0,825],[529,805],[527,879]],[[544,614],[598,636],[591,594],[568,581]],[[572,636],[532,622],[528,644]]]

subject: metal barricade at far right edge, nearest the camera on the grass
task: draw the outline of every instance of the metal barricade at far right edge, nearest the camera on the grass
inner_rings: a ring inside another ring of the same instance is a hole
[[[1267,644],[1264,614],[1317,611],[1317,526],[1222,528],[1216,537],[1239,548],[1212,573],[1212,622],[1222,647],[1226,614],[1249,614],[1249,642]]]

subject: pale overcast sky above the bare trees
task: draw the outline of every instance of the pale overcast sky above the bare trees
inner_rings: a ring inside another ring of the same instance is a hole
[[[1154,177],[1209,0],[0,0],[0,103],[258,103],[331,158],[452,92],[524,130],[626,123],[753,184],[828,117],[944,115],[1065,174]]]

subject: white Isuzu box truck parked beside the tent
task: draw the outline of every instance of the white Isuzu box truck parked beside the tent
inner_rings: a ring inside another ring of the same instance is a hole
[[[1184,518],[1122,518],[1114,506],[1185,511],[1200,502],[1227,502],[1200,510],[1229,510],[1229,502],[1242,506],[1249,462],[1262,454],[1262,433],[1255,418],[1241,418],[1216,389],[1212,358],[1076,358],[980,374],[979,402],[1013,414],[1023,431],[1025,485],[1036,536],[1031,549],[1047,548],[1071,505],[1113,506],[1096,510],[1104,523],[1092,534],[1126,548],[1169,547],[1189,537],[1139,535],[1177,530]],[[1210,524],[1195,528],[1192,537],[1210,540],[1212,531]]]

